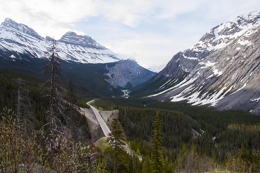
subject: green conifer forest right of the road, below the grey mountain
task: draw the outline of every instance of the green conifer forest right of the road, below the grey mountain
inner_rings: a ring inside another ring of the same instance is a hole
[[[259,171],[259,115],[234,110],[218,111],[204,106],[152,99],[103,98],[95,104],[107,110],[119,110],[118,118],[126,136],[133,140],[132,146],[135,150],[138,149],[143,157],[151,151],[149,144],[153,134],[153,118],[158,110],[164,157],[169,159],[169,164],[173,164],[171,169],[180,167],[178,164],[182,158],[183,147],[194,147],[198,156],[207,161],[212,159],[213,162],[225,165],[231,162],[229,159],[239,158],[241,164],[245,161],[248,169]],[[207,161],[203,161],[197,164],[206,166]],[[195,165],[193,167],[196,168]],[[199,169],[205,169],[202,167]]]

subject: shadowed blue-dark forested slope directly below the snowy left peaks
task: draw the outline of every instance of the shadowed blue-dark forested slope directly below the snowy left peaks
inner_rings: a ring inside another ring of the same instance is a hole
[[[24,59],[16,59],[11,61],[10,57],[3,55],[0,59],[1,69],[12,69],[16,72],[22,72],[43,78],[41,73],[42,67],[45,64],[44,59],[34,59],[30,55],[24,55]],[[110,63],[113,64],[113,63]],[[105,64],[82,64],[75,62],[67,62],[61,60],[60,67],[62,76],[60,79],[66,83],[70,78],[77,86],[77,95],[80,98],[84,97],[101,97],[101,96],[120,96],[122,91],[111,87],[105,79],[108,76],[103,74],[108,73],[105,69]]]

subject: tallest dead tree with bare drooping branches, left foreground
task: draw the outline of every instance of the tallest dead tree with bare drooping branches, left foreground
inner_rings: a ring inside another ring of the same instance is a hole
[[[47,81],[42,84],[43,92],[47,91],[44,94],[45,97],[50,98],[50,108],[47,111],[48,117],[47,121],[49,121],[44,126],[49,126],[50,131],[50,142],[49,142],[49,151],[50,154],[54,153],[54,142],[55,142],[55,134],[61,134],[64,132],[64,123],[61,121],[61,118],[66,122],[68,119],[63,114],[63,101],[61,99],[64,89],[61,86],[61,68],[60,68],[60,56],[58,54],[59,50],[57,48],[57,41],[52,40],[50,47],[45,52],[46,54],[46,63],[43,67],[42,73],[44,75],[48,75]],[[60,117],[58,117],[60,116]]]

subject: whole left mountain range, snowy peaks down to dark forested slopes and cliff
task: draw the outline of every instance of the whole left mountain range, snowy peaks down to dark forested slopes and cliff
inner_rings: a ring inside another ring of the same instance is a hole
[[[123,60],[88,35],[67,32],[57,40],[63,79],[73,78],[83,92],[93,96],[120,95],[119,88],[131,88],[156,73]],[[0,68],[42,76],[44,52],[52,43],[33,29],[6,18],[0,25]],[[94,65],[95,64],[95,65]]]

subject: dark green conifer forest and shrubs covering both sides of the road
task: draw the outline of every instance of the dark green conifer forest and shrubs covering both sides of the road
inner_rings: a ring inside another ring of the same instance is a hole
[[[118,123],[122,125],[119,129],[133,151],[131,155],[121,147],[122,151],[115,155],[112,145],[103,151],[94,146],[86,118],[77,111],[73,113],[69,104],[65,104],[64,115],[56,112],[64,131],[55,136],[57,146],[51,156],[47,147],[50,135],[44,126],[48,123],[49,99],[40,86],[45,80],[7,70],[0,74],[1,172],[154,172],[151,139],[157,111],[161,121],[163,172],[259,172],[258,115],[153,99],[102,97],[94,103],[103,110],[119,110]],[[19,83],[13,80],[17,78],[24,81],[20,89],[26,92],[20,93],[27,98],[21,101],[19,122]],[[69,90],[68,84],[64,86]],[[64,99],[69,101],[66,96],[64,93]],[[75,104],[88,108],[84,102],[81,99]],[[66,121],[66,115],[73,118]],[[13,151],[17,155],[12,156]]]

